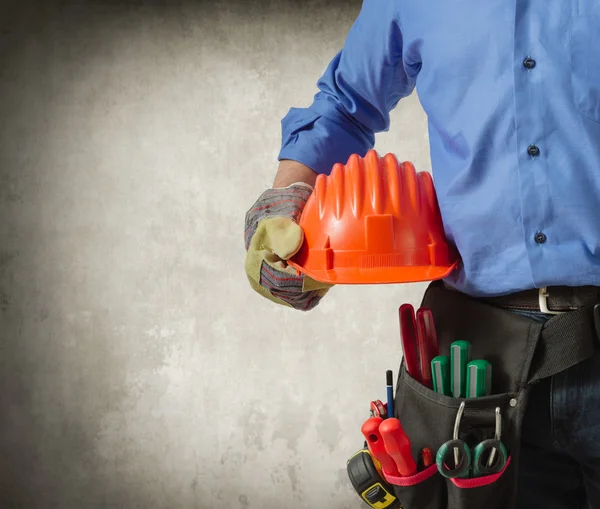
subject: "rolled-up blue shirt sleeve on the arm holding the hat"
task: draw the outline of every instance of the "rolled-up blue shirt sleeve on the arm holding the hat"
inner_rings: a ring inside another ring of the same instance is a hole
[[[389,129],[390,112],[412,93],[417,74],[403,59],[397,10],[394,0],[364,0],[342,50],[317,82],[313,103],[282,119],[279,160],[328,174],[350,155],[364,156],[375,133]]]

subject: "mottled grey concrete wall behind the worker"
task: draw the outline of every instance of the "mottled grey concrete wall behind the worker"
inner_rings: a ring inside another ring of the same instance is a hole
[[[243,272],[280,119],[358,0],[0,7],[0,507],[358,508],[345,462],[423,285],[308,314]],[[403,101],[380,153],[429,169]]]

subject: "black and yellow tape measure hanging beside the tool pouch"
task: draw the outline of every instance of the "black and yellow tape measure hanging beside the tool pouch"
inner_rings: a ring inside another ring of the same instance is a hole
[[[373,509],[402,509],[394,488],[377,471],[368,449],[361,449],[346,465],[356,493]]]

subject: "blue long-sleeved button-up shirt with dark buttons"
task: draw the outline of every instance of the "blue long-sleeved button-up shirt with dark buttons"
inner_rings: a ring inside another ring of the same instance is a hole
[[[280,159],[328,173],[364,155],[415,88],[462,258],[447,282],[600,285],[600,0],[365,0],[312,105],[283,119]]]

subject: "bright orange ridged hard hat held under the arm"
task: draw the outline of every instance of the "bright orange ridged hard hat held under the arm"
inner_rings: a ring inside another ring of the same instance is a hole
[[[458,265],[448,245],[431,175],[393,154],[354,154],[319,175],[289,264],[331,284],[434,281]]]

